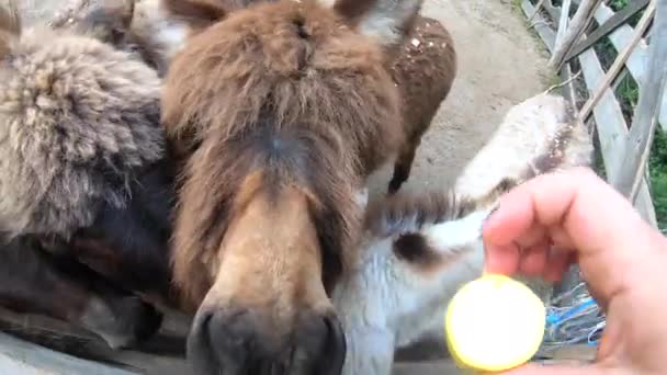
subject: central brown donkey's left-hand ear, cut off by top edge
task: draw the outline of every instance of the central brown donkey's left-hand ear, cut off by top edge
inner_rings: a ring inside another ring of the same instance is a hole
[[[205,0],[162,0],[161,8],[176,20],[181,20],[193,30],[202,30],[223,20],[227,11]]]

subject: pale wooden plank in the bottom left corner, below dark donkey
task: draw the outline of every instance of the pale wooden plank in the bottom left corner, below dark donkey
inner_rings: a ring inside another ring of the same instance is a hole
[[[0,374],[135,375],[134,372],[58,353],[2,332]]]

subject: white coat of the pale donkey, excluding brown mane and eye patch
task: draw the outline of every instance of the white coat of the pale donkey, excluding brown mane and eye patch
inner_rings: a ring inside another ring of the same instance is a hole
[[[519,178],[533,159],[547,152],[554,135],[566,126],[574,127],[573,138],[558,168],[589,166],[592,141],[584,125],[568,115],[563,98],[541,94],[508,112],[457,179],[456,193],[482,198],[504,178]],[[496,204],[481,204],[457,220],[421,229],[412,220],[404,220],[405,228],[365,240],[358,269],[332,295],[348,340],[343,375],[388,375],[396,348],[427,333],[443,337],[450,299],[462,284],[482,274],[482,226]],[[410,231],[423,235],[443,261],[425,271],[397,258],[394,240]]]

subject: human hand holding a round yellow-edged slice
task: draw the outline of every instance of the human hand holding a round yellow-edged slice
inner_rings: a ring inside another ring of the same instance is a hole
[[[530,364],[511,374],[667,372],[667,239],[590,170],[544,174],[515,188],[483,237],[489,273],[557,281],[577,261],[607,312],[595,364]]]

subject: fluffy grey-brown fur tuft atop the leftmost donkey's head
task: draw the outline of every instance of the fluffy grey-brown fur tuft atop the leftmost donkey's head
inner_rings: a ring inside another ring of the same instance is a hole
[[[162,157],[160,81],[93,38],[2,26],[0,230],[69,238]]]

